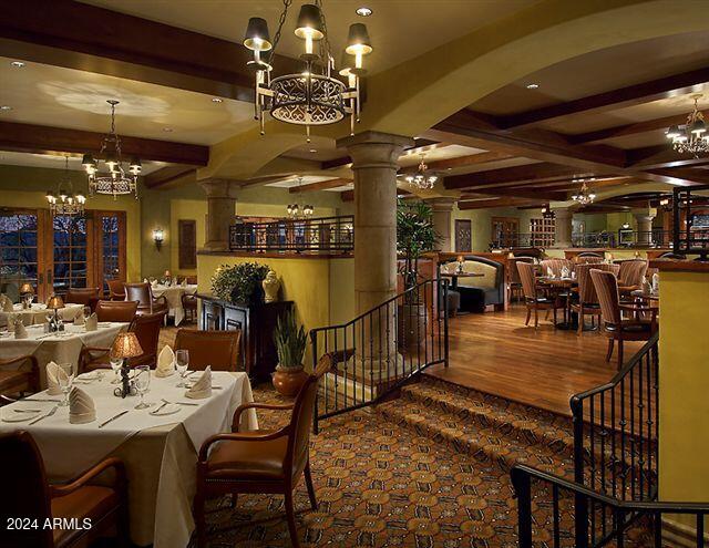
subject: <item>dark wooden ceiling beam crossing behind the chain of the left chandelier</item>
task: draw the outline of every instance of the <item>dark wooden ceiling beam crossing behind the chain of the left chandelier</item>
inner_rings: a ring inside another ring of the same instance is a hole
[[[0,122],[0,151],[34,154],[84,154],[99,156],[104,134],[66,130],[44,125]],[[124,156],[137,156],[142,161],[167,162],[189,166],[206,166],[209,147],[157,141],[152,138],[121,136]]]

